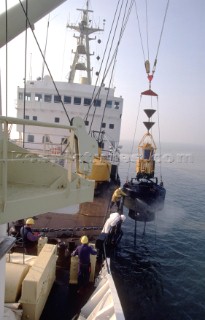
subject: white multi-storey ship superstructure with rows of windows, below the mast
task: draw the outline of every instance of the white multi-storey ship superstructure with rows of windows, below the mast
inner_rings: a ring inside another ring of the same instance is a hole
[[[123,100],[114,96],[114,89],[102,87],[100,96],[94,99],[90,108],[94,86],[69,82],[55,84],[60,96],[56,93],[49,76],[45,76],[43,80],[28,81],[25,110],[24,88],[18,88],[18,118],[68,125],[69,119],[62,106],[62,100],[70,119],[80,116],[84,119],[88,132],[99,132],[101,128],[113,146],[119,144]],[[17,130],[22,134],[22,126],[18,126]],[[57,135],[53,131],[39,131],[29,126],[25,127],[24,146],[28,149],[43,149],[45,143],[49,145],[50,150],[61,148],[65,139],[66,132],[63,129],[60,135]],[[109,149],[109,146],[104,148]]]

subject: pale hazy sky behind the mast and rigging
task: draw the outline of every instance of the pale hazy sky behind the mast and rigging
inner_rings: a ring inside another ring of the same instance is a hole
[[[9,1],[8,4],[14,1]],[[129,1],[130,2],[130,1]],[[92,0],[91,9],[95,11],[95,22],[102,27],[106,19],[101,49],[93,41],[93,51],[102,57],[113,15],[118,0]],[[121,3],[121,1],[120,1]],[[126,1],[124,1],[125,6]],[[144,0],[136,0],[140,29],[145,52],[148,58],[146,37],[146,10]],[[160,32],[167,0],[147,0],[149,59],[151,66],[157,52]],[[55,80],[65,81],[71,64],[73,31],[66,29],[66,23],[76,23],[80,12],[76,8],[85,5],[84,0],[68,0],[50,14],[50,28],[46,59]],[[0,3],[4,10],[5,1]],[[93,19],[93,18],[92,18]],[[44,48],[48,16],[35,25],[35,34]],[[120,27],[120,25],[119,25]],[[119,28],[118,27],[118,28]],[[119,34],[119,31],[118,31]],[[25,35],[22,34],[8,45],[8,115],[16,116],[16,88],[22,86],[25,64]],[[36,79],[42,72],[42,60],[37,51],[31,32],[28,32],[27,78]],[[99,68],[100,61],[93,60],[93,67]],[[0,49],[0,68],[2,88],[5,92],[5,48]],[[45,72],[47,74],[47,72]],[[158,93],[160,135],[163,142],[185,142],[204,145],[205,136],[205,1],[170,0],[167,18],[159,48],[156,73],[152,89]],[[109,79],[107,80],[109,81]],[[108,85],[108,82],[106,83]],[[120,43],[113,85],[116,94],[124,98],[122,117],[122,140],[132,140],[137,120],[140,93],[148,89],[144,68],[144,57],[140,42],[135,7]],[[141,110],[147,105],[141,103]],[[5,109],[3,109],[5,115]],[[143,114],[143,112],[141,112]],[[146,120],[143,115],[141,120]],[[157,118],[154,120],[157,121]],[[157,125],[156,125],[157,128]],[[144,128],[143,128],[144,130]],[[136,138],[143,133],[137,122]]]

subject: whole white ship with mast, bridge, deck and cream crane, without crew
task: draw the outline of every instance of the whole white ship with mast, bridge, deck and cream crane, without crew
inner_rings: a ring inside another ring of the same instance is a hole
[[[27,7],[24,1],[2,14],[1,47],[63,2],[35,0]],[[26,82],[18,89],[18,117],[0,116],[0,319],[124,319],[104,242],[104,259],[92,256],[83,296],[78,258],[71,257],[84,234],[95,248],[120,183],[123,100],[114,89],[91,84],[89,35],[99,28],[89,26],[88,5],[79,25],[68,26],[80,31],[69,81]],[[81,84],[74,83],[76,70],[87,73]],[[15,125],[20,139],[11,141]],[[37,256],[25,254],[19,236],[29,217],[42,233]]]

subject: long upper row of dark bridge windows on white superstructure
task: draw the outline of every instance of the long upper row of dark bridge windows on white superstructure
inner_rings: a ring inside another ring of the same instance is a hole
[[[19,100],[23,100],[24,98],[24,93],[19,92],[18,96]],[[31,93],[25,93],[25,100],[26,101],[31,101]],[[81,98],[81,97],[71,97],[71,96],[60,96],[60,95],[52,95],[52,94],[41,94],[41,93],[35,93],[35,101],[37,102],[54,102],[54,103],[61,103],[61,101],[64,104],[71,104],[73,100],[74,105],[84,105],[84,106],[90,106],[92,103],[91,98]],[[100,99],[95,99],[93,101],[93,105],[95,107],[101,107],[101,100]],[[106,108],[112,108],[112,106],[115,109],[119,109],[120,107],[120,102],[119,101],[112,101],[112,100],[107,100],[106,102]]]

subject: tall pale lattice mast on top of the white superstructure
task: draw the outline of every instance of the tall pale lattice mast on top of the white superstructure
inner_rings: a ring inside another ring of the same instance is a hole
[[[93,12],[92,10],[89,10],[89,1],[86,1],[86,9],[77,9],[79,11],[82,11],[81,21],[78,25],[73,24],[67,24],[67,28],[76,30],[79,35],[76,36],[74,34],[74,38],[77,39],[77,48],[74,53],[74,59],[73,63],[71,65],[70,69],[70,75],[68,82],[74,83],[75,74],[76,71],[84,71],[86,74],[86,77],[81,78],[82,83],[86,84],[92,84],[92,78],[91,78],[91,64],[90,64],[90,56],[93,55],[90,53],[90,46],[89,41],[95,40],[96,38],[90,38],[89,35],[98,32],[103,31],[104,29],[100,28],[93,28],[89,25],[89,13]]]

